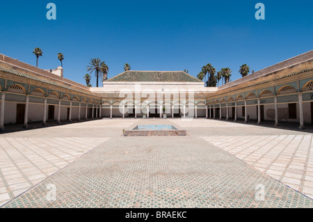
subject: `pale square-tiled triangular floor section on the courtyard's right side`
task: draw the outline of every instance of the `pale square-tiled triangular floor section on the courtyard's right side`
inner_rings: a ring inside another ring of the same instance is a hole
[[[312,137],[303,134],[202,138],[313,198]]]

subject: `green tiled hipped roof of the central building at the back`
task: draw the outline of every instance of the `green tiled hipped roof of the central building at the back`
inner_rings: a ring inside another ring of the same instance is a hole
[[[126,71],[106,81],[202,82],[183,71]]]

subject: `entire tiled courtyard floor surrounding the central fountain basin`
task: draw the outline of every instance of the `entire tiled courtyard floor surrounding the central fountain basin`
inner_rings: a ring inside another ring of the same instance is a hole
[[[137,124],[174,124],[188,136],[122,136]],[[0,145],[2,207],[313,206],[307,132],[103,119],[1,134]],[[56,200],[47,199],[51,184]]]

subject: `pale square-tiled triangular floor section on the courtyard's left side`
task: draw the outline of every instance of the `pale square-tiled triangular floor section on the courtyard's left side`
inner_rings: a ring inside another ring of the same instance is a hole
[[[107,140],[0,137],[0,206]]]

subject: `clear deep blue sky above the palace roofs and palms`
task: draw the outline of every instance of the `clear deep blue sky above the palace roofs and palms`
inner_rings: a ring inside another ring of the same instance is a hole
[[[56,20],[46,18],[56,4]],[[265,20],[255,19],[255,4]],[[109,66],[109,78],[131,70],[189,70],[202,65],[261,70],[313,49],[313,1],[297,0],[117,0],[2,1],[0,53],[35,65],[32,51],[44,52],[38,67],[57,68],[62,52],[64,77],[86,84],[90,58]],[[95,86],[92,75],[91,84]]]

